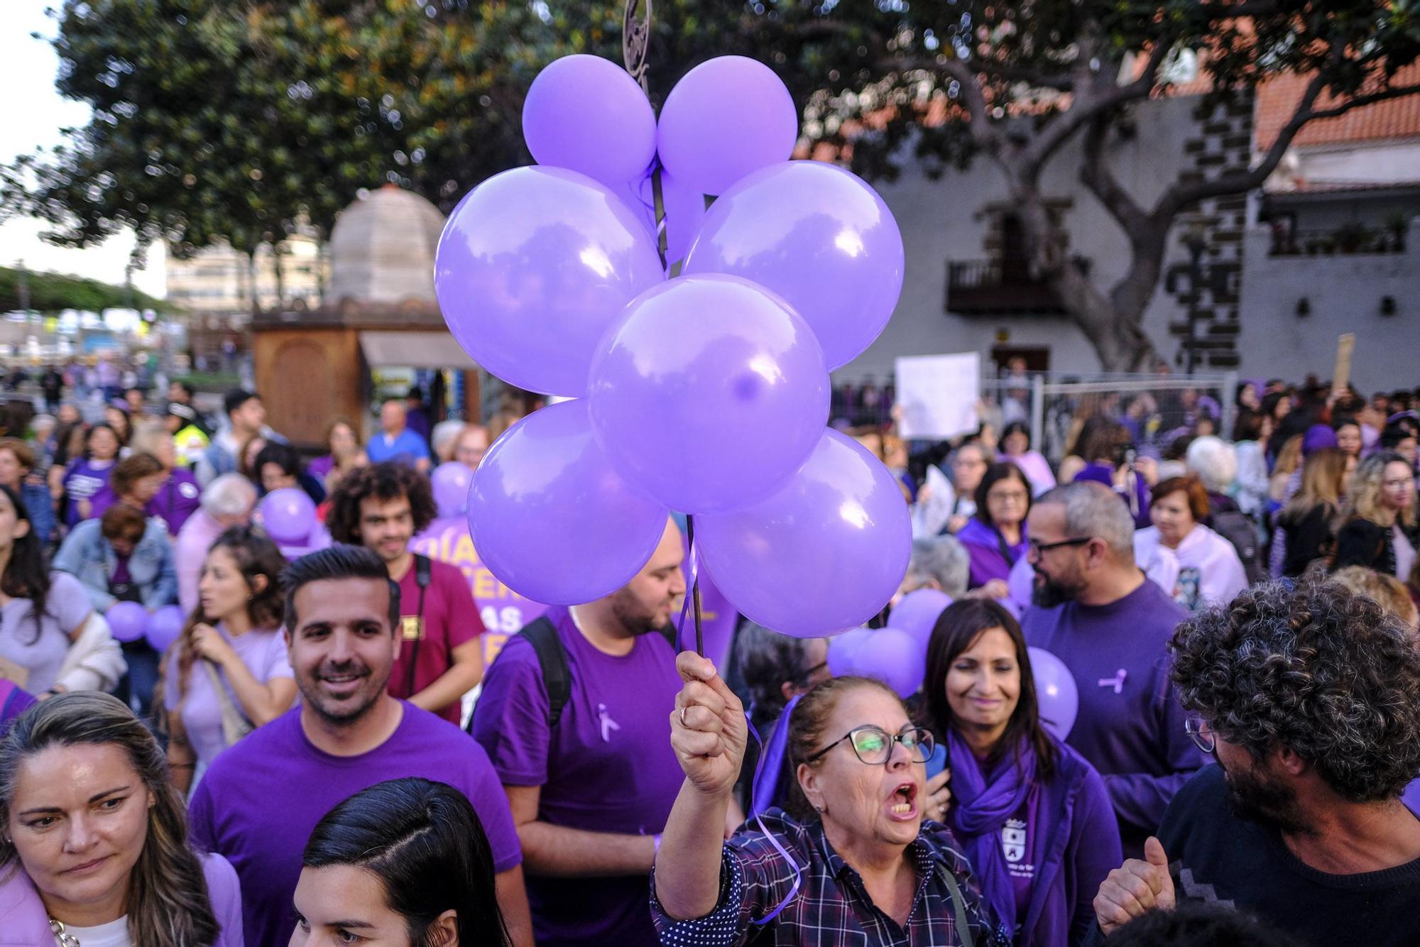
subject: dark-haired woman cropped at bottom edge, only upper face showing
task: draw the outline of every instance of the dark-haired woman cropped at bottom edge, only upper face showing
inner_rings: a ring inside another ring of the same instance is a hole
[[[443,782],[376,782],[311,831],[291,947],[506,947],[493,850],[467,797]]]

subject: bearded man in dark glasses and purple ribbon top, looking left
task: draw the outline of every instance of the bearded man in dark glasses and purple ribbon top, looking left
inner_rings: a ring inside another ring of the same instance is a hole
[[[1066,743],[1105,778],[1125,853],[1140,855],[1204,764],[1167,676],[1169,636],[1189,612],[1135,565],[1133,517],[1109,487],[1055,487],[1028,524],[1035,605],[1021,629],[1074,674],[1079,716]]]

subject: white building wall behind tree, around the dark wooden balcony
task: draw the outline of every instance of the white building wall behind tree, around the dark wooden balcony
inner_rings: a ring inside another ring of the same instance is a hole
[[[1113,149],[1113,166],[1120,183],[1146,206],[1159,197],[1179,172],[1191,168],[1184,142],[1197,136],[1198,124],[1191,116],[1196,98],[1149,101],[1135,112],[1136,133]],[[1051,199],[1071,200],[1065,212],[1071,251],[1089,257],[1096,285],[1109,287],[1129,266],[1129,246],[1123,231],[1103,206],[1079,183],[1082,163],[1079,136],[1056,153],[1047,166],[1042,190]],[[880,381],[892,373],[899,355],[977,351],[987,365],[998,334],[1008,334],[1012,346],[1047,346],[1051,371],[1056,373],[1098,372],[1099,358],[1089,339],[1059,317],[958,317],[944,311],[949,260],[981,260],[988,224],[981,209],[1007,200],[1001,175],[988,158],[978,156],[967,170],[949,169],[940,179],[929,179],[912,156],[902,158],[896,182],[875,186],[892,209],[906,246],[906,278],[902,300],[878,341],[858,359],[835,373],[838,381],[873,376]],[[1170,261],[1186,260],[1177,246]],[[1169,336],[1167,324],[1181,308],[1174,300],[1156,292],[1146,311],[1145,329],[1160,355],[1170,362],[1177,342]]]

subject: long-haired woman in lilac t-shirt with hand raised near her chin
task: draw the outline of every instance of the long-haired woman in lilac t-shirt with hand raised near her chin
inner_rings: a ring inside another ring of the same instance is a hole
[[[168,764],[183,792],[223,750],[295,701],[281,636],[284,568],[281,549],[251,527],[227,530],[207,552],[199,605],[163,664]]]

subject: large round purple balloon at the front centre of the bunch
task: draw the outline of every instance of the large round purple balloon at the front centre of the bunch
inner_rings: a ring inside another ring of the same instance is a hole
[[[748,280],[704,274],[626,307],[592,361],[586,400],[612,466],[699,514],[782,487],[824,433],[828,395],[804,319]]]

